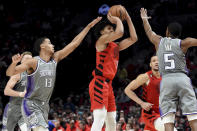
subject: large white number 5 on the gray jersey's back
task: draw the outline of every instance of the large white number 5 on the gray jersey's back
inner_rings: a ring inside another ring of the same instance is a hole
[[[170,56],[173,56],[173,53],[164,54],[164,61],[165,63],[169,63],[169,65],[165,66],[165,70],[171,70],[175,68],[175,62],[173,59],[169,59]]]

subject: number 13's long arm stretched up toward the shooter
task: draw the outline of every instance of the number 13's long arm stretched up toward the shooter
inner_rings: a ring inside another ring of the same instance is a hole
[[[60,51],[55,52],[54,54],[55,61],[58,62],[64,59],[66,56],[68,56],[71,52],[73,52],[80,45],[81,41],[84,39],[86,34],[89,32],[89,30],[101,19],[102,17],[97,17],[96,19],[94,19],[66,47],[64,47]]]

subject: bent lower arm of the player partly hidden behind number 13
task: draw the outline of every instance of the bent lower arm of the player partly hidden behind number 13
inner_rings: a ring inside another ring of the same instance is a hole
[[[19,80],[20,80],[20,74],[11,76],[9,81],[6,84],[5,89],[4,89],[4,95],[6,95],[6,96],[14,96],[14,97],[24,97],[26,91],[19,92],[19,91],[13,90],[14,86],[16,85],[16,83]]]

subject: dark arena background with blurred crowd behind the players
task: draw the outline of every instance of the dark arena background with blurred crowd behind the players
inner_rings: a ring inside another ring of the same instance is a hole
[[[11,5],[9,3],[12,3]],[[76,1],[79,2],[79,1]],[[109,6],[122,4],[127,9],[136,28],[138,42],[120,52],[120,63],[113,81],[117,103],[117,130],[143,130],[140,121],[141,108],[124,94],[124,88],[140,73],[148,71],[150,57],[155,54],[154,46],[148,41],[139,15],[141,7],[148,9],[153,30],[164,36],[166,26],[176,19],[183,26],[182,38],[197,34],[196,0],[95,0],[88,6],[81,2],[81,8],[69,5],[66,0],[42,2],[37,0],[0,1],[0,119],[8,97],[3,90],[8,81],[5,71],[11,63],[12,55],[33,51],[33,44],[39,37],[47,36],[55,45],[55,50],[66,46],[72,39],[99,14],[102,4]],[[14,6],[14,7],[13,7]],[[17,7],[17,8],[16,8]],[[124,24],[125,25],[125,24]],[[125,35],[129,35],[125,26]],[[49,119],[56,127],[69,128],[83,126],[89,128],[92,116],[88,84],[95,67],[94,28],[88,33],[81,45],[57,67],[57,79],[50,103]],[[190,78],[197,92],[197,48],[189,49],[186,54]],[[83,93],[82,93],[83,92]],[[142,90],[138,89],[138,95]],[[178,110],[175,126],[188,129],[188,122]],[[1,121],[1,120],[0,120]],[[74,123],[74,124],[73,124]],[[52,124],[52,125],[53,125]],[[53,130],[55,131],[55,129]],[[72,131],[72,130],[71,130]]]

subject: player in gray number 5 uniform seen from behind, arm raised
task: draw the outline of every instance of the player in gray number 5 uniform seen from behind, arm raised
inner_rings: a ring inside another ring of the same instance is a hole
[[[162,75],[159,107],[165,131],[174,130],[177,104],[186,115],[191,129],[197,131],[197,100],[195,92],[187,76],[185,54],[188,48],[197,46],[197,39],[179,39],[182,27],[179,23],[170,23],[166,37],[154,33],[148,22],[147,11],[141,8],[144,30],[154,44],[159,59],[159,72]]]

